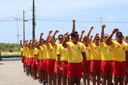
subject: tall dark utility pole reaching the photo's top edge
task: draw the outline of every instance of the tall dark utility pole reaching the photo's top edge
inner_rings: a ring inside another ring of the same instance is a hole
[[[32,39],[35,40],[35,0],[33,0],[33,11],[32,11]]]

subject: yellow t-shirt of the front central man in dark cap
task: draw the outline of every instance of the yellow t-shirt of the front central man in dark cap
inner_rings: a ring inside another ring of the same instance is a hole
[[[69,52],[68,62],[69,63],[80,63],[83,60],[82,53],[84,51],[84,44],[81,42],[77,42],[74,44],[72,42],[67,42],[67,50]]]

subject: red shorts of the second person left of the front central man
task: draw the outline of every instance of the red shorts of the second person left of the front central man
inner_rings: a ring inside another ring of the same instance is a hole
[[[55,60],[47,59],[46,60],[46,71],[47,73],[54,73]]]

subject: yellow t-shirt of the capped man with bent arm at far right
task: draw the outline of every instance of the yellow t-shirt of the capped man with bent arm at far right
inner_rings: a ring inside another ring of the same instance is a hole
[[[127,50],[128,45],[126,42],[122,42],[121,44],[118,43],[116,40],[113,41],[111,45],[112,49],[112,58],[114,61],[126,61],[126,54],[125,51]]]

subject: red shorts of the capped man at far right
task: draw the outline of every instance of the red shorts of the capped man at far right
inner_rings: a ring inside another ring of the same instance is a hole
[[[124,77],[126,75],[126,62],[119,62],[119,61],[113,61],[112,62],[113,67],[113,76],[118,77],[122,76]]]

